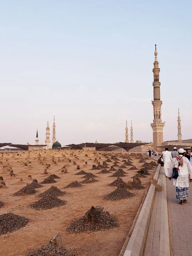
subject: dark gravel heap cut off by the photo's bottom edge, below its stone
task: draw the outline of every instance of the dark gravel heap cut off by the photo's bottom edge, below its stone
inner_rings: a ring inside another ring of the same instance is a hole
[[[27,256],[75,256],[56,244],[48,243],[27,254]]]

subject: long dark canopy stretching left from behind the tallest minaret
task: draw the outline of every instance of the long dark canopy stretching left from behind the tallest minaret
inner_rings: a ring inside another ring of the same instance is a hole
[[[124,148],[126,151],[129,151],[131,148],[142,146],[148,143],[126,143],[126,142],[117,142],[117,143],[81,143],[81,144],[70,144],[66,145],[68,147],[71,147],[73,149],[82,149],[83,147],[95,147],[96,150],[102,150],[103,148],[109,147],[109,146],[117,146]]]

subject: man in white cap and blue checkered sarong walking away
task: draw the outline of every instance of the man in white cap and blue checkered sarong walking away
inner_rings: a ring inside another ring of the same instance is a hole
[[[183,148],[179,148],[179,155],[173,158],[167,175],[171,180],[173,168],[178,167],[179,176],[173,179],[173,185],[176,187],[176,197],[180,205],[187,202],[189,182],[192,181],[192,166],[187,157],[184,157],[185,152]]]

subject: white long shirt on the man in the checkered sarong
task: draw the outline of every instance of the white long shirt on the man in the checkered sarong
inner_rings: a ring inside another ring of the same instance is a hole
[[[182,155],[180,155],[182,157]],[[189,187],[189,178],[192,179],[192,166],[189,163],[189,160],[186,157],[182,157],[183,159],[183,166],[179,166],[178,171],[178,178],[173,179],[173,185],[180,188],[188,188]],[[169,171],[168,171],[168,177],[172,176],[173,167],[178,167],[178,161],[176,157],[173,158]]]

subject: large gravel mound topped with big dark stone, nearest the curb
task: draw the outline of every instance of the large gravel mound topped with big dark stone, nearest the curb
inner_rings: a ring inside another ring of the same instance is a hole
[[[96,210],[91,207],[89,211],[79,220],[72,223],[68,228],[68,233],[81,233],[85,231],[98,231],[118,227],[119,223],[109,212]]]

